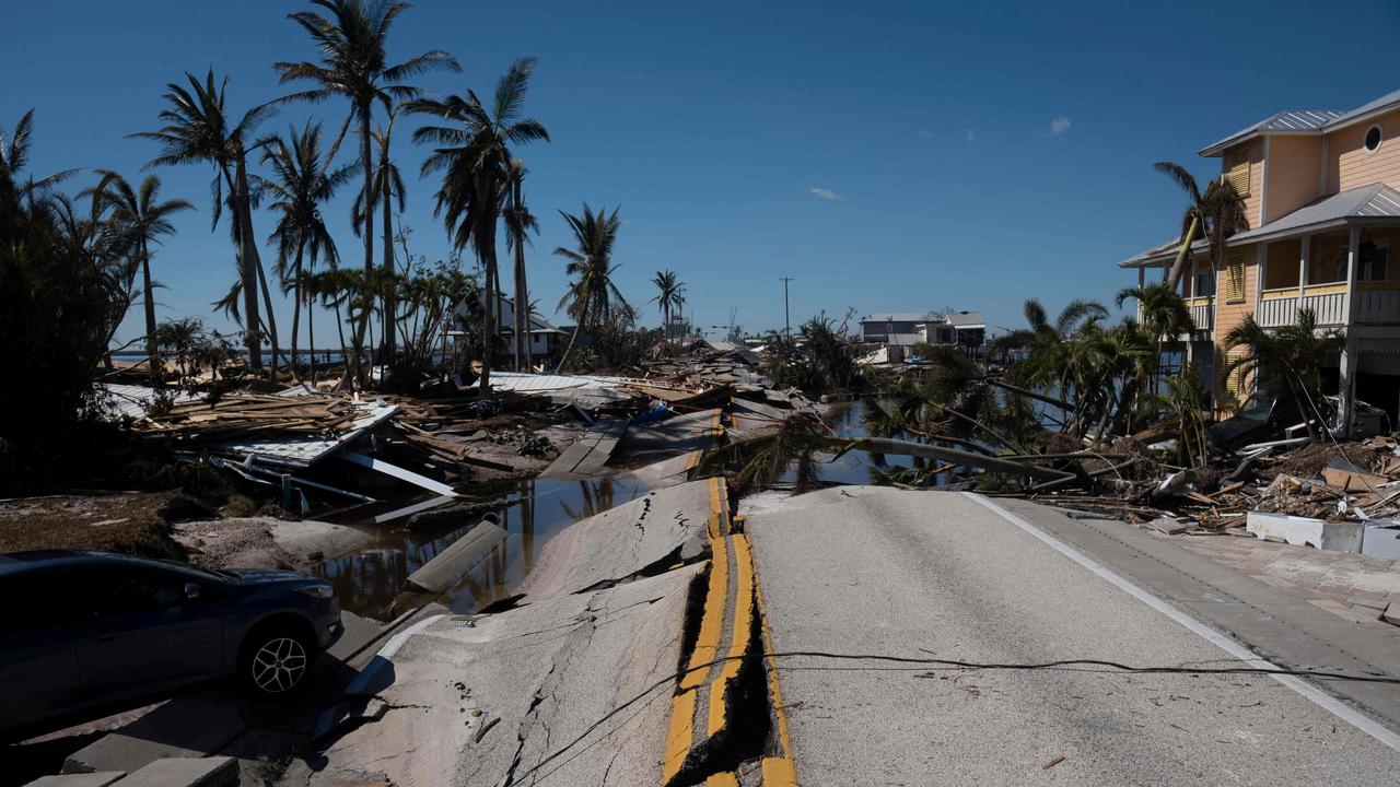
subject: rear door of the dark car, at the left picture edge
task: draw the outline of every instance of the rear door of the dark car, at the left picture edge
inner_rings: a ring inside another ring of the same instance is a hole
[[[7,605],[0,623],[0,727],[35,724],[71,709],[78,699],[74,626],[80,595],[64,574],[0,580]]]

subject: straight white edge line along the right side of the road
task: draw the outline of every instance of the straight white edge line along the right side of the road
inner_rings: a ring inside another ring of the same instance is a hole
[[[1219,633],[1219,632],[1217,632],[1217,630],[1205,626],[1204,623],[1201,623],[1196,618],[1191,618],[1190,615],[1182,612],[1176,606],[1172,606],[1170,604],[1168,604],[1168,602],[1162,601],[1161,598],[1152,595],[1147,590],[1144,590],[1144,588],[1141,588],[1141,587],[1130,583],[1128,580],[1126,580],[1121,576],[1116,574],[1107,566],[1103,566],[1102,563],[1098,563],[1092,557],[1089,557],[1089,556],[1084,555],[1082,552],[1074,549],[1072,546],[1064,543],[1063,541],[1057,539],[1056,536],[1044,532],[1043,529],[1037,528],[1036,525],[1032,525],[1030,522],[1028,522],[1026,520],[1018,517],[1016,514],[1014,514],[1014,513],[1002,508],[1001,506],[998,506],[997,503],[991,501],[990,499],[983,497],[983,496],[976,494],[976,493],[972,493],[972,492],[965,492],[963,494],[969,500],[973,500],[974,503],[979,503],[983,507],[986,507],[986,508],[997,513],[998,515],[1001,515],[1001,518],[1007,520],[1008,522],[1016,525],[1018,528],[1021,528],[1021,529],[1026,531],[1028,534],[1036,536],[1037,539],[1043,541],[1051,549],[1054,549],[1056,552],[1064,555],[1070,560],[1074,560],[1075,563],[1078,563],[1078,564],[1084,566],[1085,569],[1093,571],[1095,574],[1103,577],[1109,583],[1117,585],[1119,590],[1127,592],[1133,598],[1137,598],[1142,604],[1151,606],[1152,609],[1156,609],[1158,612],[1161,612],[1162,615],[1166,615],[1172,620],[1176,620],[1182,626],[1186,626],[1194,634],[1200,636],[1201,639],[1204,639],[1205,641],[1214,644],[1215,647],[1224,650],[1225,653],[1233,655],[1235,658],[1239,658],[1240,661],[1245,661],[1249,665],[1257,667],[1260,669],[1282,669],[1282,667],[1278,667],[1277,664],[1266,660],[1264,657],[1261,657],[1257,653],[1254,653],[1254,651],[1249,650],[1247,647],[1245,647],[1239,640],[1231,639],[1231,637],[1228,637],[1228,636],[1225,636],[1225,634],[1222,634],[1222,633]],[[1303,699],[1310,700],[1313,704],[1316,704],[1316,706],[1322,707],[1323,710],[1331,713],[1337,718],[1345,721],[1347,724],[1351,724],[1357,730],[1361,730],[1362,732],[1371,735],[1372,738],[1375,738],[1376,741],[1385,744],[1386,746],[1390,746],[1392,749],[1400,752],[1400,735],[1397,735],[1396,732],[1393,732],[1390,728],[1385,727],[1379,721],[1375,721],[1375,720],[1366,717],[1365,714],[1362,714],[1361,711],[1343,704],[1336,697],[1327,695],[1322,689],[1313,686],[1312,683],[1308,683],[1306,681],[1303,681],[1302,678],[1298,678],[1295,675],[1270,675],[1270,678],[1273,678],[1274,681],[1278,681],[1280,683],[1282,683],[1282,685],[1288,686],[1289,689],[1298,692],[1299,695],[1303,696]]]

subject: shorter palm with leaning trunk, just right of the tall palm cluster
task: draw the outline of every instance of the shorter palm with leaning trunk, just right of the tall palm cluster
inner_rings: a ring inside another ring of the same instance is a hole
[[[568,337],[568,346],[559,358],[559,368],[564,368],[580,332],[608,321],[617,307],[627,307],[627,300],[612,280],[612,274],[617,270],[612,263],[612,248],[617,239],[617,230],[622,228],[619,210],[622,209],[615,207],[609,216],[605,206],[594,213],[585,202],[582,216],[559,211],[574,234],[577,251],[559,246],[554,253],[568,259],[564,273],[578,277],[559,300],[560,308],[567,304],[568,315],[574,318],[574,335]]]

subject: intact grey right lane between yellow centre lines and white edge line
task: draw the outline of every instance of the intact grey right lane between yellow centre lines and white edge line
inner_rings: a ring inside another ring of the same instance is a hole
[[[776,653],[1238,664],[984,499],[840,487],[741,513]],[[776,661],[806,787],[1400,780],[1383,741],[1263,675]]]

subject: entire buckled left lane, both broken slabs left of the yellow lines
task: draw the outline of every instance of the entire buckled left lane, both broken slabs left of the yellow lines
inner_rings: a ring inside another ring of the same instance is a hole
[[[364,689],[382,716],[329,744],[305,783],[661,784],[727,508],[722,482],[690,482],[566,529],[512,606],[407,637]],[[732,623],[736,591],[717,592]]]

